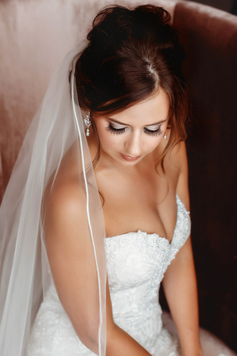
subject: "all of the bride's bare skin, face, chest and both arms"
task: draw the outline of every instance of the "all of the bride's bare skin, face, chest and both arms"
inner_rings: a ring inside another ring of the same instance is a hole
[[[103,214],[107,238],[140,229],[147,233],[155,232],[171,242],[177,219],[176,194],[186,209],[190,210],[185,143],[181,142],[175,146],[171,154],[165,157],[168,193],[167,182],[161,168],[158,168],[160,175],[154,168],[155,160],[163,152],[170,135],[170,130],[167,129],[168,100],[165,93],[160,92],[158,95],[160,96],[111,116],[112,119],[127,124],[117,126],[117,128],[126,126],[121,135],[115,136],[106,130],[110,123],[107,118],[95,117],[102,152],[94,172],[98,190],[104,197]],[[146,117],[142,115],[144,112]],[[161,125],[152,126],[157,121],[163,122]],[[151,137],[145,133],[144,127],[150,127],[152,131],[161,127],[162,135]],[[165,131],[166,139],[163,137]],[[87,139],[93,159],[96,143],[92,131]],[[120,153],[141,157],[137,161],[127,162],[121,158]],[[84,246],[78,242],[80,238],[78,231],[82,230],[86,217],[81,214],[81,195],[76,184],[76,172],[77,156],[72,146],[64,158],[53,187],[54,192],[45,207],[45,242],[61,303],[80,339],[86,343],[87,336],[81,330],[85,328],[85,321],[91,319],[93,312],[90,310],[87,313],[80,308],[84,302],[80,290],[85,288],[84,278],[87,279],[88,271],[83,269],[86,263]],[[65,185],[65,182],[68,183]],[[96,276],[92,274],[92,278],[96,283]],[[168,266],[163,278],[163,287],[178,329],[182,355],[202,356],[196,276],[190,237]],[[65,290],[73,293],[65,293]],[[149,356],[150,354],[138,342],[115,325],[108,282],[106,300],[106,355]],[[92,339],[93,335],[90,335],[90,340]],[[91,347],[91,350],[96,349]]]

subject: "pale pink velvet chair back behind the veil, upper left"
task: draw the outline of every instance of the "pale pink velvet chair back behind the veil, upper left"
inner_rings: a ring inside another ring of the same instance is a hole
[[[177,1],[154,1],[171,13]],[[85,39],[98,10],[143,0],[0,1],[0,201],[54,68]]]

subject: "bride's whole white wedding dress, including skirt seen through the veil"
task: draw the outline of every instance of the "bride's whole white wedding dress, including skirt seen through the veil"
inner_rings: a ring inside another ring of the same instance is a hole
[[[104,239],[114,322],[153,356],[181,355],[178,338],[163,328],[158,302],[164,273],[190,234],[189,211],[177,194],[176,201],[171,243],[141,230]],[[26,355],[95,355],[77,336],[53,283],[36,315]]]

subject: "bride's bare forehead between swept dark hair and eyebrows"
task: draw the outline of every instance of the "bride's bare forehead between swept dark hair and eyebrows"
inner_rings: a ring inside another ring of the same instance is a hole
[[[169,108],[169,97],[160,89],[157,94],[108,117],[131,126],[148,126],[168,119]]]

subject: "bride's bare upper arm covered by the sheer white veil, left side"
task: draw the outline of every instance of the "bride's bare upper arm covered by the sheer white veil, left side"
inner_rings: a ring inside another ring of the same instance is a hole
[[[45,205],[45,246],[55,287],[80,340],[97,351],[98,277],[78,184],[54,188]]]

